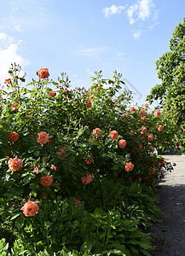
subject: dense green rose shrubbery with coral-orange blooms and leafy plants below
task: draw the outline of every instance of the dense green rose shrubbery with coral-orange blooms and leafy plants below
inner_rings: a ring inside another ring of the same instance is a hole
[[[90,90],[44,68],[28,90],[19,72],[1,92],[2,255],[150,255],[141,230],[157,220],[161,167],[172,170],[155,153],[173,143],[176,120],[117,96],[116,72],[95,73]]]

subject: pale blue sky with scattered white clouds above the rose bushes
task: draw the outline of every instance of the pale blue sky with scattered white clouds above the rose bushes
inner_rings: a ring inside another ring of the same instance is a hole
[[[116,69],[142,104],[160,83],[155,61],[184,10],[184,0],[1,1],[0,83],[14,61],[27,83],[48,67],[52,79],[66,72],[72,87],[89,88],[95,71],[109,79]]]

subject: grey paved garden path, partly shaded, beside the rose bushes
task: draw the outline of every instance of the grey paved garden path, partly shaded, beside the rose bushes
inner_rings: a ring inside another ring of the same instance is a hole
[[[155,224],[152,232],[153,255],[185,256],[185,157],[165,155],[165,160],[176,163],[173,172],[165,172],[159,181],[159,214],[162,224]]]

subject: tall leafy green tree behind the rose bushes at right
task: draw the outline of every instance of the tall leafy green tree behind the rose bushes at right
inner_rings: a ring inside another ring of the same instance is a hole
[[[185,18],[170,40],[170,51],[156,61],[158,78],[162,83],[153,87],[147,101],[159,100],[159,107],[176,113],[179,124],[185,118]]]

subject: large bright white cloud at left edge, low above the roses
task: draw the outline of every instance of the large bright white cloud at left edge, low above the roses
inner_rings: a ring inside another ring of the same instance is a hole
[[[5,33],[0,33],[0,84],[9,78],[9,67],[12,63],[19,64],[20,67],[29,65],[29,61],[18,54],[20,40],[14,42],[14,38],[10,38]]]

